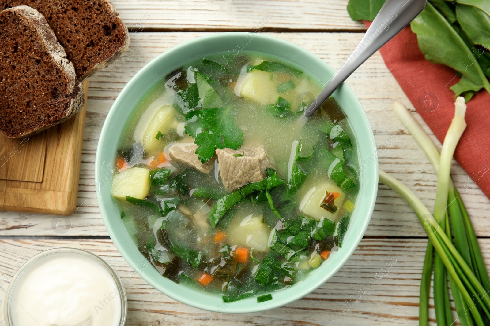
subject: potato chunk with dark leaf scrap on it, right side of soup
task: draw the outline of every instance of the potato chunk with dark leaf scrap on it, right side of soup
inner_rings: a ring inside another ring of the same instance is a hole
[[[340,194],[340,196],[338,196],[334,200],[334,204],[337,206],[337,211],[335,213],[331,213],[320,206],[320,204],[323,202],[323,199],[325,198],[326,192]],[[303,200],[301,201],[301,204],[299,204],[299,210],[301,211],[301,213],[309,217],[313,217],[317,220],[325,217],[331,221],[336,222],[344,199],[345,194],[339,187],[329,183],[322,183],[320,185],[313,186],[310,191],[306,193],[306,195],[303,197]]]

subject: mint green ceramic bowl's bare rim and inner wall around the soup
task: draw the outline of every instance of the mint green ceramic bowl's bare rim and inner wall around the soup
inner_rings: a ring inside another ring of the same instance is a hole
[[[124,229],[116,203],[111,196],[111,178],[118,140],[122,128],[145,92],[169,72],[198,57],[229,51],[235,55],[241,50],[272,54],[302,67],[325,81],[334,70],[307,50],[278,38],[256,33],[221,33],[196,38],[182,43],[157,56],[145,65],[127,83],[114,102],[105,119],[97,147],[95,180],[98,205],[111,239],[129,265],[151,286],[181,303],[199,309],[249,313],[276,308],[298,300],[330,279],[349,259],[368,227],[378,189],[378,161],[376,145],[368,118],[352,90],[347,85],[339,87],[334,96],[340,103],[352,126],[357,141],[360,161],[360,190],[345,234],[342,249],[332,255],[319,268],[313,270],[300,284],[274,291],[273,300],[257,303],[256,297],[224,304],[221,296],[192,289],[162,277],[130,239]]]

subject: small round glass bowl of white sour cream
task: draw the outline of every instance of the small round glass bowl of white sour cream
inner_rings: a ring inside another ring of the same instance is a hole
[[[26,261],[4,304],[6,326],[123,326],[127,300],[114,269],[97,255],[54,248]]]

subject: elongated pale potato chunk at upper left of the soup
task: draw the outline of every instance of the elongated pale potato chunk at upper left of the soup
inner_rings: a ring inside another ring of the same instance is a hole
[[[143,135],[142,143],[145,151],[153,152],[158,149],[161,141],[155,137],[158,131],[165,134],[175,125],[175,114],[176,111],[171,105],[164,105],[156,111]]]

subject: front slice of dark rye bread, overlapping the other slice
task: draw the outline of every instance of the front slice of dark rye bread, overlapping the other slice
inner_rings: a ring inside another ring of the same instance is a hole
[[[24,137],[77,114],[84,91],[43,15],[18,6],[0,12],[0,130]]]

